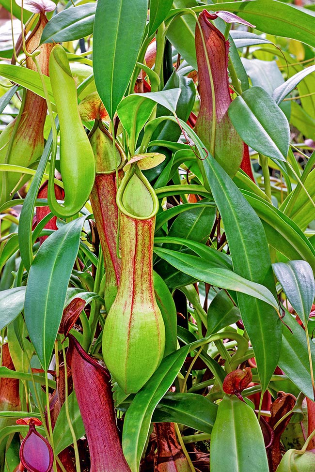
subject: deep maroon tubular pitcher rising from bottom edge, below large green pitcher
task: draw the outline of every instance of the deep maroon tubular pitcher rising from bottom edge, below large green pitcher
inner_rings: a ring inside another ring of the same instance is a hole
[[[130,472],[116,426],[110,374],[69,335],[69,363],[87,440],[90,472]]]

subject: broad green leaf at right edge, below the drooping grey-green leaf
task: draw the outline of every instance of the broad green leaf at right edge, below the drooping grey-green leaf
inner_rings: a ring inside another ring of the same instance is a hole
[[[282,348],[279,367],[296,384],[304,395],[314,401],[314,392],[310,372],[310,362],[305,340],[305,331],[297,320],[285,311],[282,327]],[[312,363],[315,365],[315,346],[310,343]]]

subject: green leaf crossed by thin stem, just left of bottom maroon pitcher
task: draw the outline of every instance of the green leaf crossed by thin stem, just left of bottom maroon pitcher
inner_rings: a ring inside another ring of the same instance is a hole
[[[68,422],[65,413],[65,408],[65,403],[63,403],[53,431],[55,454],[59,454],[61,451],[63,451],[63,449],[73,443],[71,431],[69,427],[67,427]],[[78,440],[79,438],[84,436],[85,429],[81,418],[75,391],[71,392],[71,394],[68,396],[68,410],[71,424]]]

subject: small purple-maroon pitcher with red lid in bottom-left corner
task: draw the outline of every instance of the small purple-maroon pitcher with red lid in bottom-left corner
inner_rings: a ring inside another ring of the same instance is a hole
[[[28,472],[50,472],[54,457],[52,448],[49,442],[36,431],[37,419],[27,419],[30,429],[20,447],[21,463]]]

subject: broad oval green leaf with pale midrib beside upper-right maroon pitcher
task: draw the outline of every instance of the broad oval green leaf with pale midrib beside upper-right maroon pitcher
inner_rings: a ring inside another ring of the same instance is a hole
[[[261,87],[237,96],[228,110],[236,131],[255,151],[285,161],[289,150],[289,123],[276,102]]]

